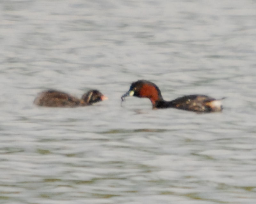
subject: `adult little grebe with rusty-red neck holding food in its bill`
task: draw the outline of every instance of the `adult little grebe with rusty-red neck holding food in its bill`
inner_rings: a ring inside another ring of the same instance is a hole
[[[187,95],[172,101],[165,101],[156,84],[147,80],[133,82],[129,91],[121,97],[122,101],[127,96],[149,98],[153,108],[178,108],[187,111],[208,113],[222,111],[221,99],[216,100],[205,95]]]

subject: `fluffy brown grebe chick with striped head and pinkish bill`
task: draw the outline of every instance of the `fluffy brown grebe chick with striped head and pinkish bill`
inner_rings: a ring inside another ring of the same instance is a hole
[[[34,100],[34,104],[48,107],[76,107],[89,106],[106,99],[108,98],[98,90],[90,90],[79,99],[65,92],[50,89],[39,93]]]

